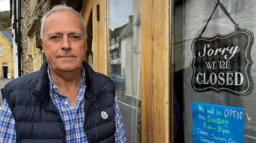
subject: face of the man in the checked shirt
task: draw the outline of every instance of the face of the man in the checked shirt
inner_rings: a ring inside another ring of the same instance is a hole
[[[44,23],[41,42],[50,68],[60,71],[81,69],[86,52],[83,24],[71,12],[55,12]]]

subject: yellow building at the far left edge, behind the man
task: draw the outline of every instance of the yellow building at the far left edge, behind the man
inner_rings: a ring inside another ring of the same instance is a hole
[[[8,73],[13,78],[12,30],[0,30],[0,78],[7,78]]]

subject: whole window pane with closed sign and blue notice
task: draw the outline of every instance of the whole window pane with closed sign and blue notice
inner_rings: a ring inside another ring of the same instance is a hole
[[[256,142],[255,4],[174,2],[174,142]]]

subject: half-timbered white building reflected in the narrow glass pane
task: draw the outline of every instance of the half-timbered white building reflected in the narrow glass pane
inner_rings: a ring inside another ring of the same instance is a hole
[[[111,31],[110,59],[111,73],[122,75],[125,79],[125,94],[132,96],[132,33],[133,16],[129,22]]]

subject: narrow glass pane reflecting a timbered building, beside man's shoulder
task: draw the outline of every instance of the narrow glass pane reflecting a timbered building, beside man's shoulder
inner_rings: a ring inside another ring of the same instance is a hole
[[[141,142],[140,1],[108,1],[108,76],[114,81],[127,142]]]

